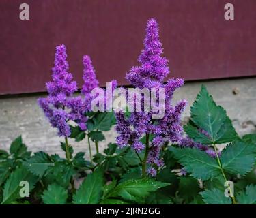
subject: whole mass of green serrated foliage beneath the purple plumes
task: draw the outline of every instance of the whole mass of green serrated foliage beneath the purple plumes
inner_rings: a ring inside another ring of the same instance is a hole
[[[103,132],[115,124],[113,112],[87,112],[87,130],[70,126],[77,142],[87,136],[93,142],[105,139]],[[130,116],[126,112],[125,116]],[[256,204],[256,134],[238,138],[225,110],[216,105],[205,87],[191,108],[191,119],[184,127],[195,142],[214,147],[225,144],[219,158],[196,148],[169,146],[160,150],[164,166],[156,178],[141,178],[144,151],[135,153],[130,146],[122,149],[109,143],[93,162],[84,152],[74,154],[69,144],[67,159],[43,151],[31,157],[21,136],[0,150],[1,204]],[[87,139],[88,139],[87,138]],[[150,134],[150,145],[153,134]],[[145,136],[141,138],[145,144]],[[66,144],[61,143],[66,151]],[[85,151],[85,147],[81,148]],[[148,166],[147,166],[148,167]],[[180,174],[184,170],[185,174]],[[29,182],[29,197],[20,198],[20,181]],[[81,183],[81,181],[83,181]],[[234,198],[225,197],[225,181],[234,184]],[[78,189],[77,184],[81,183]]]

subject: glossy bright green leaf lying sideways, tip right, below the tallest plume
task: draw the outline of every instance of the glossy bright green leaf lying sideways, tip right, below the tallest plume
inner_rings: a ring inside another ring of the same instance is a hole
[[[122,197],[124,200],[142,202],[150,192],[167,185],[169,183],[162,183],[150,178],[131,179],[117,185],[110,191],[108,197]]]

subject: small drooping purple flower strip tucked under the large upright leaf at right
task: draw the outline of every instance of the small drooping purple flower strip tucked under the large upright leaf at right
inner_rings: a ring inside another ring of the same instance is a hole
[[[205,151],[210,157],[216,158],[216,153],[214,149],[209,148],[206,145],[203,145],[201,143],[194,142],[192,139],[188,138],[187,136],[182,138],[182,141],[180,142],[181,147],[187,147],[187,148],[195,148],[199,149],[201,151]],[[218,151],[218,156],[221,155],[221,151]]]

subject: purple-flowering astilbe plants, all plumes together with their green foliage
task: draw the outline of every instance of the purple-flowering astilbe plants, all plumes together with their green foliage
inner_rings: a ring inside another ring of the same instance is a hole
[[[46,84],[48,96],[38,102],[65,138],[61,148],[66,159],[43,151],[31,155],[21,136],[16,138],[9,151],[0,150],[1,204],[256,204],[256,135],[240,138],[225,109],[204,86],[183,131],[180,116],[186,100],[174,106],[172,102],[183,80],[164,83],[169,69],[154,19],[147,23],[144,46],[139,67],[132,67],[126,78],[139,89],[165,89],[165,114],[158,120],[145,110],[119,111],[115,116],[91,111],[91,90],[99,83],[90,57],[83,57],[84,84],[76,96],[66,48],[57,46],[52,81]],[[113,89],[116,86],[113,80]],[[100,152],[98,142],[115,117],[118,145],[110,143]],[[74,155],[68,143],[68,138],[85,137],[90,161],[84,152]],[[96,144],[94,159],[91,141]],[[29,183],[29,197],[20,196],[20,181]]]

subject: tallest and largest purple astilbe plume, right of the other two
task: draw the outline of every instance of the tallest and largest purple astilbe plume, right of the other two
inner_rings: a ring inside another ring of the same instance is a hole
[[[163,81],[169,74],[169,67],[167,59],[161,55],[162,44],[159,40],[158,24],[156,20],[150,19],[147,22],[144,50],[138,59],[140,66],[132,67],[126,74],[126,79],[133,87],[140,89],[159,90],[164,88],[165,116],[159,120],[152,120],[152,112],[132,112],[129,118],[126,118],[122,111],[116,113],[116,131],[119,133],[117,144],[119,146],[130,145],[139,152],[145,148],[141,138],[145,134],[154,136],[147,157],[147,163],[150,164],[148,173],[152,176],[156,175],[156,169],[163,164],[160,159],[162,145],[165,142],[179,143],[182,140],[183,129],[180,125],[180,116],[187,103],[183,99],[175,106],[171,104],[174,91],[184,84],[184,80],[172,78],[167,84],[164,84]]]

